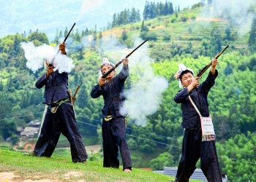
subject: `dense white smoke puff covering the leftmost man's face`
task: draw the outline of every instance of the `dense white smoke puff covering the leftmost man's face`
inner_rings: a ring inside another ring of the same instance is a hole
[[[44,66],[45,60],[48,60],[48,63],[53,64],[56,69],[59,69],[59,73],[70,73],[72,68],[75,67],[72,64],[73,60],[71,58],[66,55],[56,55],[57,50],[50,45],[43,44],[42,46],[35,47],[31,41],[21,42],[20,45],[25,52],[25,58],[27,60],[26,66],[31,69],[33,73]]]

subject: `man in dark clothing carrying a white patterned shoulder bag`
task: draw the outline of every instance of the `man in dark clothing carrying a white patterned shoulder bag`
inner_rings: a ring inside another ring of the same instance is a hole
[[[191,69],[179,64],[176,79],[180,87],[184,88],[178,91],[174,100],[176,103],[181,103],[183,113],[181,127],[184,128],[184,138],[176,181],[188,182],[194,173],[198,159],[200,159],[201,170],[208,181],[222,181],[215,143],[214,141],[202,141],[200,116],[189,100],[190,95],[200,114],[204,117],[209,116],[207,96],[218,76],[218,71],[215,69],[217,63],[217,59],[212,60],[211,71],[202,84],[199,84],[199,77],[194,77]]]

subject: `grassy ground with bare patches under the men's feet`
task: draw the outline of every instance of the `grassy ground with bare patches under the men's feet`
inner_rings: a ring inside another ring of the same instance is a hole
[[[102,167],[102,162],[87,165],[72,163],[69,157],[29,157],[22,152],[0,149],[0,173],[12,172],[12,181],[170,181],[173,177],[133,168],[132,173]],[[75,175],[67,175],[72,172]],[[1,179],[5,180],[5,179]]]

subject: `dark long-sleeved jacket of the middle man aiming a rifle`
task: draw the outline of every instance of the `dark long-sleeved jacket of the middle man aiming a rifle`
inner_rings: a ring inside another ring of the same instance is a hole
[[[112,117],[122,116],[119,110],[124,105],[124,95],[121,94],[124,91],[124,81],[129,76],[129,67],[123,66],[121,72],[106,82],[104,87],[100,87],[99,84],[95,85],[91,90],[91,98],[99,98],[100,95],[104,98],[104,106],[102,108],[103,116],[108,116],[111,113]],[[110,110],[110,112],[109,112]]]

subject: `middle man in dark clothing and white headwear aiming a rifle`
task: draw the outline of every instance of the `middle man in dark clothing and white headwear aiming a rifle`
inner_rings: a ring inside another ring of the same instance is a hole
[[[119,167],[118,149],[120,149],[124,172],[132,172],[132,161],[129,154],[127,141],[125,139],[125,116],[120,113],[120,108],[124,105],[124,81],[129,76],[129,60],[124,58],[121,72],[115,76],[116,71],[112,71],[106,79],[102,79],[113,63],[108,58],[103,58],[99,66],[99,83],[91,90],[91,98],[104,98],[102,109],[102,138],[103,138],[103,167]]]

